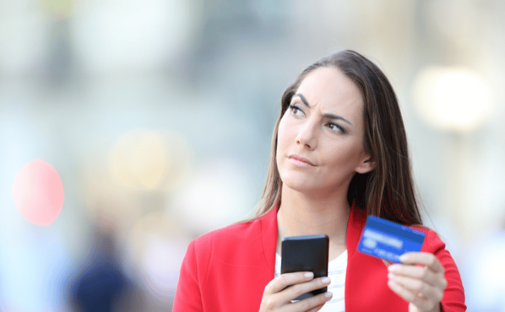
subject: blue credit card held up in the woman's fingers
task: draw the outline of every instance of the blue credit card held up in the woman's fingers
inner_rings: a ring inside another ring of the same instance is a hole
[[[425,236],[425,233],[406,225],[368,216],[358,250],[390,262],[400,262],[398,258],[405,252],[421,250]]]

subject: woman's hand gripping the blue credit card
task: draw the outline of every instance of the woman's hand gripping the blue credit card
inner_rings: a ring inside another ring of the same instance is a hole
[[[410,303],[409,312],[440,311],[447,287],[440,261],[428,252],[407,252],[400,261],[388,266],[389,288]]]

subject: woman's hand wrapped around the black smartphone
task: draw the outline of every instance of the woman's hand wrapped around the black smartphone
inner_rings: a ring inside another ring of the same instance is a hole
[[[284,273],[265,286],[259,312],[316,312],[330,299],[331,292],[320,293],[298,302],[291,302],[299,295],[329,285],[329,277],[314,279],[312,272]]]

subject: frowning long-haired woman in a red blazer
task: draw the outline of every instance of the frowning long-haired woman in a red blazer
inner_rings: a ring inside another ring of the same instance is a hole
[[[391,266],[356,252],[370,214],[418,225],[421,252]],[[421,224],[390,83],[359,53],[329,55],[282,96],[256,217],[189,244],[173,311],[465,311],[454,260]],[[330,278],[280,275],[282,239],[310,234],[329,236]]]

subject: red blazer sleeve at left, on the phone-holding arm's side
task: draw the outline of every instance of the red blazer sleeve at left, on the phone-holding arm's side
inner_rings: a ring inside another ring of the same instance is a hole
[[[203,311],[201,283],[198,276],[198,262],[196,257],[196,242],[189,243],[173,301],[173,312],[201,312]]]

